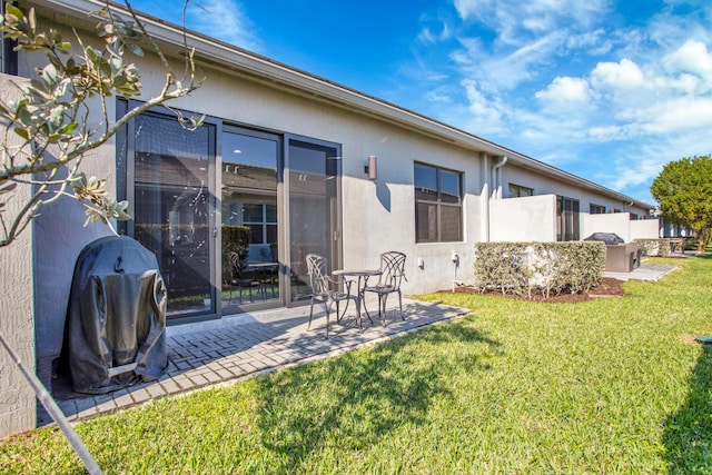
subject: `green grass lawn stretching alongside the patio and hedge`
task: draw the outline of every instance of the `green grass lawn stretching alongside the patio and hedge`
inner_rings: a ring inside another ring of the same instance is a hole
[[[712,255],[623,298],[466,294],[456,321],[81,423],[106,473],[712,473]],[[51,427],[0,473],[82,473]]]

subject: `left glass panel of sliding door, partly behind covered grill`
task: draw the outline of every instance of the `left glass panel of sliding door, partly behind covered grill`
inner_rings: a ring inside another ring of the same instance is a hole
[[[184,129],[168,116],[135,121],[134,237],[158,258],[168,317],[215,313],[210,276],[210,170],[215,127]]]

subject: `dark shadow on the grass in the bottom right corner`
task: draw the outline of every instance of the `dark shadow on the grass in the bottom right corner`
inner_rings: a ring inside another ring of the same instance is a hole
[[[712,346],[703,346],[688,400],[665,422],[663,443],[668,473],[712,473]]]

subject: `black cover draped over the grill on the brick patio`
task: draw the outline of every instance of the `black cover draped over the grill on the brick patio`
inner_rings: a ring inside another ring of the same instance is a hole
[[[75,266],[62,357],[73,389],[88,394],[154,380],[168,367],[166,287],[156,256],[138,241],[109,236],[82,249]],[[112,374],[131,364],[136,368]]]

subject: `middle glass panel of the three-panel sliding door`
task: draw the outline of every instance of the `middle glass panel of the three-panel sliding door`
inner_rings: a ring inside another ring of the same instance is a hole
[[[279,137],[225,127],[222,149],[222,313],[279,299],[277,164]]]

